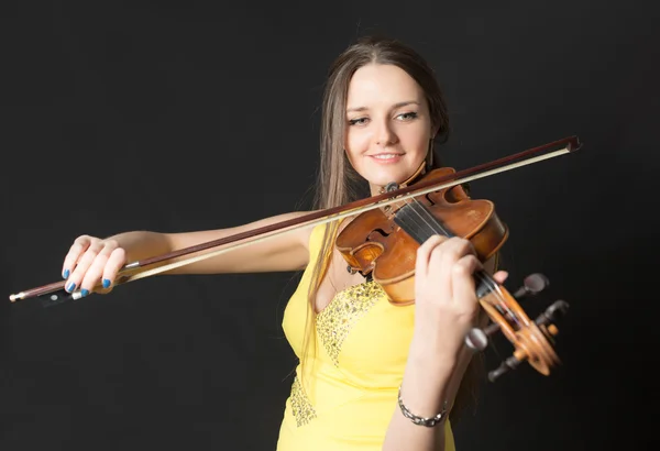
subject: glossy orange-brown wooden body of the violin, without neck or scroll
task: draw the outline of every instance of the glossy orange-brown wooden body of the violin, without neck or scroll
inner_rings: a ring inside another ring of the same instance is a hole
[[[453,173],[451,167],[438,168],[424,175],[420,182]],[[399,306],[415,301],[416,251],[431,234],[453,234],[470,240],[482,263],[508,238],[508,228],[499,220],[494,204],[471,199],[461,185],[416,197],[414,202],[431,213],[433,226],[439,223],[441,229],[429,227],[431,218],[415,209],[405,213],[409,227],[404,231],[397,223],[397,215],[402,216],[410,204],[398,208],[388,205],[356,216],[337,238],[337,249],[350,270],[363,275],[371,273],[389,301]]]

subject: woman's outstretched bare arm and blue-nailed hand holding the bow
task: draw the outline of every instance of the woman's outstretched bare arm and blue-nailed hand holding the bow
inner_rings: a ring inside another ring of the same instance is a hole
[[[63,265],[63,276],[68,287],[92,290],[98,283],[114,282],[117,273],[127,264],[152,256],[163,255],[175,250],[218,240],[244,231],[276,222],[294,219],[306,212],[290,212],[227,229],[160,233],[152,231],[130,231],[106,239],[82,235],[75,240]],[[308,240],[310,227],[282,233],[261,242],[229,250],[220,255],[189,265],[169,270],[163,274],[219,274],[297,271],[308,262]],[[209,249],[202,252],[212,252]],[[193,254],[172,258],[147,268],[162,266]],[[67,271],[69,274],[67,276]],[[138,270],[140,271],[140,270]]]

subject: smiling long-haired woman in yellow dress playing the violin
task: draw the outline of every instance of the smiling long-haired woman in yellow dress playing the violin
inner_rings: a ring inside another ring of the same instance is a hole
[[[413,50],[364,38],[331,67],[323,98],[320,209],[376,195],[437,167],[433,143],[448,133],[442,94]],[[433,162],[436,161],[436,164]],[[365,190],[366,190],[365,189]],[[133,231],[80,237],[66,255],[66,289],[106,293],[127,263],[305,215],[290,212],[231,229]],[[451,422],[471,396],[466,331],[481,322],[472,273],[493,272],[469,241],[432,237],[416,254],[415,304],[394,306],[383,289],[346,271],[334,238],[352,218],[304,228],[174,274],[304,271],[283,328],[300,359],[278,451],[454,449]],[[506,273],[495,274],[504,282]],[[405,415],[406,414],[406,415]],[[418,417],[435,421],[420,421]]]

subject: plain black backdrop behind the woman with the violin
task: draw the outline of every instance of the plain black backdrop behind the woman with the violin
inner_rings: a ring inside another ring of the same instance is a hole
[[[650,3],[649,3],[650,4]],[[326,70],[398,37],[446,90],[447,165],[576,134],[583,150],[473,183],[512,235],[507,286],[571,305],[550,377],[484,383],[460,450],[654,439],[657,18],[640,1],[2,2],[0,276],[57,282],[82,233],[230,227],[302,208]],[[1,437],[32,449],[273,450],[296,274],[150,277],[42,309],[0,302]],[[488,350],[490,366],[508,355]],[[639,409],[648,407],[649,413]]]

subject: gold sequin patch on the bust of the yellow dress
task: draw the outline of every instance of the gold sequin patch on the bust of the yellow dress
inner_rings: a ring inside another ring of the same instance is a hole
[[[339,365],[341,346],[355,322],[384,295],[381,285],[373,280],[354,285],[338,293],[317,316],[319,338],[334,365]]]

